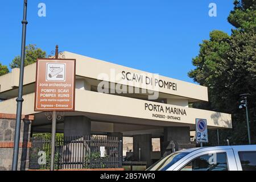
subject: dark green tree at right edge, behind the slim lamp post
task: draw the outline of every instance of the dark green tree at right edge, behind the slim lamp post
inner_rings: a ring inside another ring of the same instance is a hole
[[[220,69],[225,90],[218,93],[225,98],[223,106],[233,114],[233,130],[222,133],[233,141],[247,142],[245,110],[238,109],[240,94],[250,93],[250,131],[251,140],[256,142],[256,35],[252,32],[239,32],[230,39],[230,50],[225,53],[227,59]],[[221,101],[219,101],[221,103]]]

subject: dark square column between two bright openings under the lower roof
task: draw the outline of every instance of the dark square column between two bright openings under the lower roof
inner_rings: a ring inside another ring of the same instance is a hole
[[[141,150],[139,150],[141,148]],[[151,166],[152,135],[134,135],[133,136],[133,156],[135,161],[145,161],[147,166]],[[139,158],[141,160],[139,160]]]

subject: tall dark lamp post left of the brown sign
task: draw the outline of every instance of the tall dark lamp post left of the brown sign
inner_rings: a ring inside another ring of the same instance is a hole
[[[22,20],[22,48],[20,55],[20,73],[19,73],[19,91],[16,110],[16,125],[15,125],[15,137],[14,137],[14,150],[13,150],[13,165],[12,170],[17,171],[18,156],[19,156],[19,139],[20,139],[20,121],[22,115],[22,92],[23,92],[23,75],[24,75],[24,59],[25,59],[25,47],[26,47],[26,28],[27,28],[27,0],[24,0],[23,6],[23,20]]]

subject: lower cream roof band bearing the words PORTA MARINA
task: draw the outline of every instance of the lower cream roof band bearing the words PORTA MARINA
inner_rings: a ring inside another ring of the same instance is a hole
[[[34,111],[34,93],[23,96],[23,114]],[[15,113],[15,99],[0,102],[2,113]],[[131,123],[152,126],[189,126],[195,128],[196,118],[207,119],[209,129],[232,128],[230,114],[143,101],[135,98],[76,89],[76,112],[94,121]],[[47,121],[46,118],[44,118]]]

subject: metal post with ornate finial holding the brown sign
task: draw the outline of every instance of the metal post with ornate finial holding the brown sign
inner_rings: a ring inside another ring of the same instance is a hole
[[[59,56],[59,46],[55,48],[55,59]],[[55,164],[55,135],[56,135],[56,111],[52,111],[52,146],[51,146],[51,171],[54,171]]]

